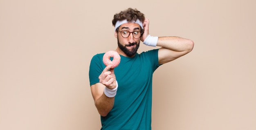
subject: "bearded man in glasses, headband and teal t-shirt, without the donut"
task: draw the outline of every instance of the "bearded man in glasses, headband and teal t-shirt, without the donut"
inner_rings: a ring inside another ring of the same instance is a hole
[[[104,53],[97,54],[92,57],[89,71],[101,130],[151,130],[153,72],[192,51],[194,43],[181,37],[151,36],[149,20],[137,9],[115,14],[112,24],[118,43],[115,51],[121,62],[112,69],[103,64]],[[140,40],[161,48],[138,54]]]

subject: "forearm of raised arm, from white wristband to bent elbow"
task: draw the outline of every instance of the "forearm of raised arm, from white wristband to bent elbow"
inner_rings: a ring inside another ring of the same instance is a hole
[[[192,40],[181,37],[158,37],[157,46],[177,52],[190,52],[193,49],[194,43]]]

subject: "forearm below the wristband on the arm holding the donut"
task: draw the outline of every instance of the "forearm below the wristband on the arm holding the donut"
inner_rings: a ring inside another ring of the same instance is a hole
[[[114,106],[115,97],[107,97],[104,93],[95,101],[95,106],[99,114],[103,117],[108,115]]]

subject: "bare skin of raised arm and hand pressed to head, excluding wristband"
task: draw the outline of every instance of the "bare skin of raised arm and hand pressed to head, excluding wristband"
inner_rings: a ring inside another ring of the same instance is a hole
[[[141,37],[143,42],[149,35],[149,20],[143,22],[144,33]],[[171,62],[192,51],[194,42],[181,37],[158,37],[157,46],[161,46],[158,51],[158,63],[164,64]]]

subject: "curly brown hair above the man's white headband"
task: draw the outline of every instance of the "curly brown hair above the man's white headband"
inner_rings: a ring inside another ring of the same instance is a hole
[[[137,21],[139,19],[141,22],[145,20],[145,16],[143,13],[138,11],[137,9],[128,8],[120,13],[116,13],[114,15],[114,19],[112,20],[113,26],[117,23],[117,21],[127,20],[128,22]]]

